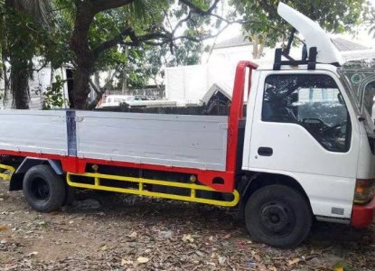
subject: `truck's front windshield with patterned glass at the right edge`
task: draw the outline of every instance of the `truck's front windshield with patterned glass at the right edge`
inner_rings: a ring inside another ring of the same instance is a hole
[[[372,134],[375,128],[375,60],[346,62],[339,72]]]

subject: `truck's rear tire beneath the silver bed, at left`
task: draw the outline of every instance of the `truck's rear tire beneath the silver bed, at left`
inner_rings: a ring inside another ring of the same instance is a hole
[[[65,200],[65,192],[65,183],[48,165],[35,165],[24,175],[23,195],[33,210],[58,210]]]

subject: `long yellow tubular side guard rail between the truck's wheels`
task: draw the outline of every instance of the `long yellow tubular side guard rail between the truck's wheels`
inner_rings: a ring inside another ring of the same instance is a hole
[[[94,184],[72,182],[70,176],[82,176],[82,177],[93,178]],[[83,174],[67,173],[66,178],[70,186],[79,187],[79,188],[96,189],[96,190],[103,190],[103,191],[108,191],[108,192],[122,192],[122,193],[134,194],[134,195],[164,198],[164,199],[177,200],[177,201],[199,202],[199,203],[224,206],[224,207],[233,207],[239,203],[239,192],[237,190],[235,190],[234,192],[231,192],[231,194],[233,195],[232,201],[218,201],[218,200],[197,198],[196,191],[208,191],[208,192],[217,192],[217,191],[215,191],[214,189],[211,189],[211,187],[198,185],[195,183],[166,182],[162,180],[151,180],[151,179],[144,179],[144,178],[108,175],[108,174],[101,174],[101,173],[83,173]],[[138,189],[119,188],[119,187],[101,185],[100,184],[101,179],[123,181],[123,182],[136,182],[138,184]],[[162,192],[149,192],[149,191],[144,190],[144,184],[155,184],[155,185],[162,185],[162,186],[169,186],[169,187],[185,188],[185,189],[190,189],[191,192],[190,192],[190,196],[167,194],[167,193],[162,193]]]

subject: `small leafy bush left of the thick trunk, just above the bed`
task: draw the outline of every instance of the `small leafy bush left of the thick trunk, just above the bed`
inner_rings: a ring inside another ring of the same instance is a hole
[[[62,108],[66,99],[63,96],[63,88],[66,80],[62,80],[60,75],[55,76],[52,86],[43,93],[43,109]]]

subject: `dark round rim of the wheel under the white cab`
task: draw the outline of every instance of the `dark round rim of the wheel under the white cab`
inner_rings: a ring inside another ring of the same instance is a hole
[[[286,203],[268,201],[260,208],[260,226],[267,235],[283,237],[295,229],[295,213]]]

